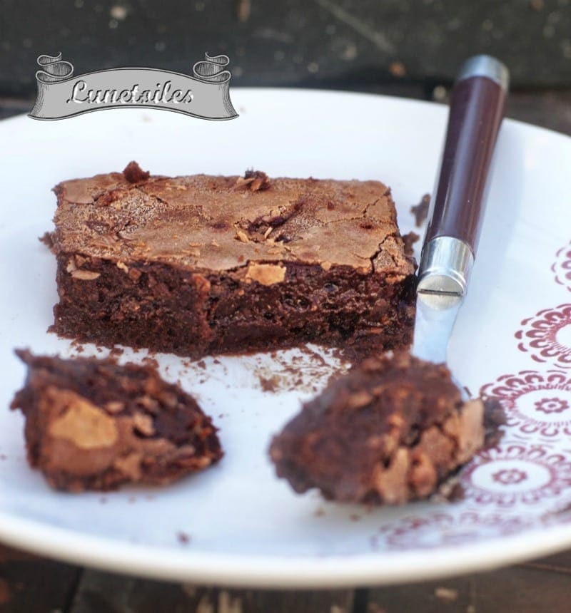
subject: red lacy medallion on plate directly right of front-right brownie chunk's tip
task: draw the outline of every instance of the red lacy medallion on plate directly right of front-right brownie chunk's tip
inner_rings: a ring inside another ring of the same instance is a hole
[[[526,436],[555,440],[571,436],[571,373],[550,370],[521,371],[497,378],[480,389],[482,396],[497,398],[507,425]]]

